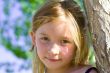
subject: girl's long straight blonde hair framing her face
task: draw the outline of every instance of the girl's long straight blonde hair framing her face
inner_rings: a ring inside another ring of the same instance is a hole
[[[71,34],[77,46],[73,65],[85,65],[88,61],[88,48],[85,40],[85,17],[80,7],[72,0],[60,2],[46,2],[33,16],[32,32],[44,23],[64,16],[73,24]],[[33,73],[44,73],[45,66],[37,56],[37,49],[33,45]]]

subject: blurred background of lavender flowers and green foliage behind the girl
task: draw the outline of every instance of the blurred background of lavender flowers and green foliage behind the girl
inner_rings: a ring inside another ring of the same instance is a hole
[[[29,32],[32,15],[44,1],[0,0],[0,73],[32,73]],[[83,7],[82,0],[76,1]],[[90,63],[94,61],[90,49]]]

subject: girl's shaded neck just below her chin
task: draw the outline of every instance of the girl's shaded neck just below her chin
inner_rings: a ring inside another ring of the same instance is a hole
[[[68,73],[72,66],[65,66],[56,69],[47,69],[47,73]]]

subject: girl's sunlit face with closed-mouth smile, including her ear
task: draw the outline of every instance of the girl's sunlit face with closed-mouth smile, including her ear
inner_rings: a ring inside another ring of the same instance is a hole
[[[40,60],[48,69],[69,67],[74,58],[76,46],[72,39],[71,24],[56,20],[41,25],[31,34]]]

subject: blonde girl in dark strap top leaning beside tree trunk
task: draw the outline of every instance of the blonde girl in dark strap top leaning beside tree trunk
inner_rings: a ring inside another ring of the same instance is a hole
[[[33,73],[97,73],[88,65],[85,24],[76,2],[47,1],[32,22]]]

